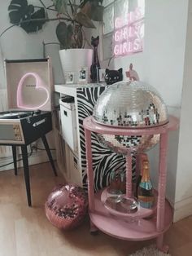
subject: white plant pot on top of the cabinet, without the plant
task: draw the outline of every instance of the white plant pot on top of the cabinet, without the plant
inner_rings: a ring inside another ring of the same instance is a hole
[[[93,59],[92,49],[67,49],[59,51],[65,82],[69,73],[74,73],[72,83],[79,82],[81,68],[87,69],[87,82],[90,82],[90,66]]]

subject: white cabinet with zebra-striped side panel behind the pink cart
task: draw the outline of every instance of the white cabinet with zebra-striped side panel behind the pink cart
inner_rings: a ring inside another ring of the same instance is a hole
[[[57,165],[66,181],[78,183],[84,188],[87,187],[87,173],[83,120],[92,115],[98,96],[106,88],[105,83],[55,85],[55,92],[60,99],[66,95],[74,98],[73,104],[60,104],[58,110],[62,127],[55,129]],[[59,122],[59,117],[55,121]],[[111,152],[94,134],[92,141],[94,186],[98,190],[109,183],[111,170],[122,167],[125,170],[125,159]]]

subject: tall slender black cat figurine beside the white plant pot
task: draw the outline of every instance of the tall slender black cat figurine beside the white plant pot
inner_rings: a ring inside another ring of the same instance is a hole
[[[98,43],[99,37],[91,37],[91,45],[94,46],[94,55],[92,65],[90,66],[90,78],[92,82],[99,82],[98,69],[100,68],[100,64],[98,60]]]

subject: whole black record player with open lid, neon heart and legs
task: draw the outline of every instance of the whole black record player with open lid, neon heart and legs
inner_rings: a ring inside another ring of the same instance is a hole
[[[12,147],[15,175],[16,148],[20,146],[24,165],[24,179],[31,206],[28,144],[41,139],[52,169],[57,175],[46,134],[52,130],[53,80],[50,59],[5,60],[7,104],[9,111],[0,113],[0,145]]]

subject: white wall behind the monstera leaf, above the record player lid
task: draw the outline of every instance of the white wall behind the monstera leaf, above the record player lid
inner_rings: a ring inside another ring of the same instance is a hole
[[[0,31],[7,29],[11,24],[8,17],[8,6],[11,0],[0,0],[1,15],[0,15]],[[41,7],[40,1],[28,1],[35,6]],[[51,4],[50,0],[44,1],[48,6]],[[52,12],[50,12],[50,15]],[[55,17],[55,12],[52,16]],[[46,23],[43,29],[37,33],[26,33],[23,29],[15,26],[9,29],[2,35],[1,45],[4,56],[7,59],[24,59],[24,58],[41,58],[42,57],[42,41],[58,42],[55,35],[55,22]]]

